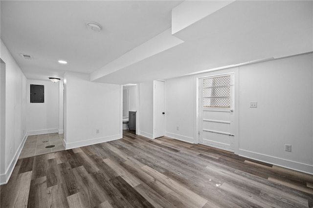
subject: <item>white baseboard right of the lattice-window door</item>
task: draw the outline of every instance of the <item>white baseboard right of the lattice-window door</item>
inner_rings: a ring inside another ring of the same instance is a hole
[[[304,173],[313,175],[313,165],[303,164],[303,163],[286,160],[282,158],[277,158],[277,157],[273,157],[273,156],[269,156],[265,154],[260,154],[257,152],[251,152],[251,151],[247,151],[244,149],[239,149],[239,155],[246,157],[246,158],[272,164],[275,166],[281,166],[281,167],[285,167],[288,169],[292,169],[292,170],[296,170],[299,172],[304,172]]]

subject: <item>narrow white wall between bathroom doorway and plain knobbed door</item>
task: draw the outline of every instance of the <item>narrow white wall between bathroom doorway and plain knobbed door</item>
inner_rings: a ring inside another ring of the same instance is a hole
[[[153,138],[153,81],[139,83],[139,135]]]

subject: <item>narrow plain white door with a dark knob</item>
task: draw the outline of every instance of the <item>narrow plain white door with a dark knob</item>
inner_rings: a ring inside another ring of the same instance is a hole
[[[153,138],[165,135],[165,83],[154,81],[153,90]]]

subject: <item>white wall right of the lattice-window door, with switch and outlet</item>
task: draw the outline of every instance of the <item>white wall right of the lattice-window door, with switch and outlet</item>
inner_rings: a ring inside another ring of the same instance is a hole
[[[241,155],[313,173],[312,70],[313,54],[240,67]]]

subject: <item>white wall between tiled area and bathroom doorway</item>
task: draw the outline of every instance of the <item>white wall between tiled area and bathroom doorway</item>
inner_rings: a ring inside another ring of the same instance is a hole
[[[88,74],[72,72],[65,73],[64,83],[67,149],[122,138],[120,85],[90,82]]]

